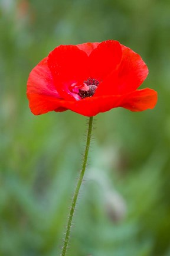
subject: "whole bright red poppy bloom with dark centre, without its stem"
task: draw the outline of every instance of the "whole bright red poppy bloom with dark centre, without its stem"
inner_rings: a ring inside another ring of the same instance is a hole
[[[157,93],[137,88],[148,75],[142,58],[118,41],[56,47],[32,69],[27,97],[33,114],[72,110],[95,116],[111,108],[143,111]]]

